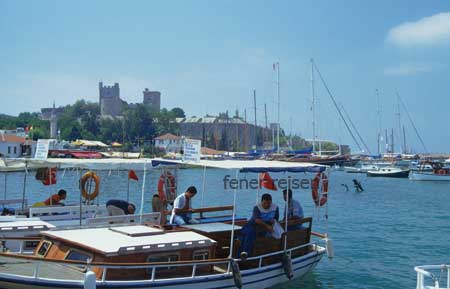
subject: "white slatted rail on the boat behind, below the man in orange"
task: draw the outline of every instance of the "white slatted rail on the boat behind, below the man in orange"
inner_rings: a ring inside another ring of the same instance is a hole
[[[81,206],[83,218],[107,216],[105,206]],[[30,208],[30,217],[40,217],[44,221],[71,220],[80,218],[80,206],[48,206]]]

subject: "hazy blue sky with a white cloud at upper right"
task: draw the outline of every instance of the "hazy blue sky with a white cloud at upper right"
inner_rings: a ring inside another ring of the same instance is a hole
[[[128,102],[149,88],[188,116],[239,110],[250,122],[256,90],[257,122],[266,104],[270,123],[279,62],[281,125],[309,139],[311,58],[372,153],[378,123],[400,150],[396,93],[427,150],[450,152],[449,1],[0,0],[4,114],[98,101],[103,81]],[[318,137],[357,151],[317,72],[314,88]],[[400,122],[423,151],[403,108]]]

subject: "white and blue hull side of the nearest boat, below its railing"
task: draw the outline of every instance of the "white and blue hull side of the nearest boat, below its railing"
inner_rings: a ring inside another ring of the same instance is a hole
[[[316,250],[307,255],[292,260],[294,278],[300,278],[310,272],[321,260],[325,248],[316,246]],[[263,289],[280,284],[289,279],[286,277],[281,263],[264,266],[256,269],[242,270],[242,288]],[[83,281],[55,280],[34,277],[17,276],[0,272],[0,288],[5,289],[66,289],[84,288]],[[196,276],[194,278],[176,278],[145,281],[97,281],[97,288],[116,289],[198,289],[198,288],[236,288],[233,276],[230,273],[209,276]]]

